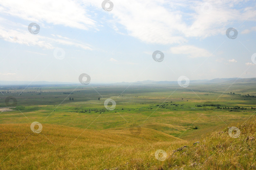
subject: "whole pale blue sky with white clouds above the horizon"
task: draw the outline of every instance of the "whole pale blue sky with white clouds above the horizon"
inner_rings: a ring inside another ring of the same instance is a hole
[[[256,77],[255,10],[250,0],[0,0],[0,81]]]

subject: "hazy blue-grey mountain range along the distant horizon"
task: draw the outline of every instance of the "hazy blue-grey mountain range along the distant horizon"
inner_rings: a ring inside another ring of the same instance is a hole
[[[191,80],[191,84],[232,84],[232,83],[256,83],[256,78],[215,78],[212,80]],[[0,86],[2,85],[75,85],[79,83],[72,82],[29,82],[29,81],[0,81]],[[113,84],[113,85],[146,85],[146,84],[177,84],[177,81],[153,81],[145,80],[138,82],[119,82],[119,83],[97,83],[91,85],[104,85],[104,84]]]

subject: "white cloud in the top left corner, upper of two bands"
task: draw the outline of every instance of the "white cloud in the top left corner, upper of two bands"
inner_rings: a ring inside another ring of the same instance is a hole
[[[73,28],[88,30],[96,27],[95,21],[87,14],[88,6],[79,1],[44,0],[30,1],[0,0],[0,13],[12,15],[33,22],[52,23]]]

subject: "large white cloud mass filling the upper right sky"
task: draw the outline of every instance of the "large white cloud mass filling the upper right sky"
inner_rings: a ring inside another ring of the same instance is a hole
[[[125,33],[129,30],[129,35],[157,44],[181,44],[190,37],[224,35],[234,21],[256,20],[255,7],[241,0],[208,2],[212,10],[205,14],[201,10],[203,2],[199,1],[115,1],[111,14],[125,27]]]

